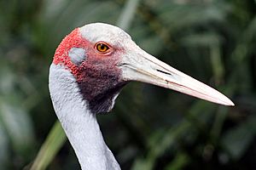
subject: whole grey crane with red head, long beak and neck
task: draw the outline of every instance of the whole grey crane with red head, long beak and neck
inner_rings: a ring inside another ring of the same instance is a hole
[[[221,105],[230,99],[143,51],[119,27],[103,23],[73,30],[55,51],[49,92],[83,170],[120,169],[96,114],[111,111],[128,82],[147,82]]]

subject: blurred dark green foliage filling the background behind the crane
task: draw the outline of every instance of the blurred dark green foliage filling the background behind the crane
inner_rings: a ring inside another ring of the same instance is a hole
[[[122,26],[148,53],[236,104],[130,83],[113,112],[98,116],[122,169],[256,169],[254,0],[0,1],[1,169],[31,167],[56,121],[48,91],[55,48],[90,22]],[[48,169],[79,169],[68,142],[44,159]]]

